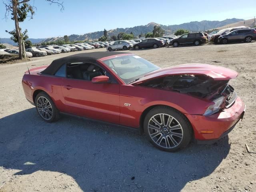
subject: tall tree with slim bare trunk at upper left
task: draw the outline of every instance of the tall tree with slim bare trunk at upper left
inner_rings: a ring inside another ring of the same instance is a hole
[[[17,42],[19,45],[19,58],[26,58],[26,51],[25,51],[25,45],[24,45],[24,37],[22,37],[22,31],[20,28],[20,22],[24,22],[26,18],[28,17],[28,14],[30,14],[30,18],[33,18],[34,15],[34,9],[35,7],[28,4],[30,0],[4,0],[5,5],[5,18],[7,18],[8,13],[11,13],[11,19],[14,20],[15,23],[15,38],[17,38]],[[49,2],[50,4],[58,4],[61,6],[61,10],[64,9],[63,4],[59,3],[58,0],[46,0],[46,2]],[[14,35],[13,35],[14,37]]]

